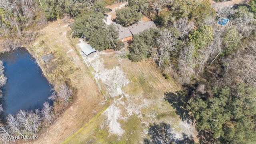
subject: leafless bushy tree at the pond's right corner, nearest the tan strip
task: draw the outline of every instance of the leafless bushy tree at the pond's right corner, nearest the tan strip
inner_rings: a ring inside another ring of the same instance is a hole
[[[72,90],[65,84],[62,83],[57,91],[58,97],[68,104],[69,98],[72,97]]]

